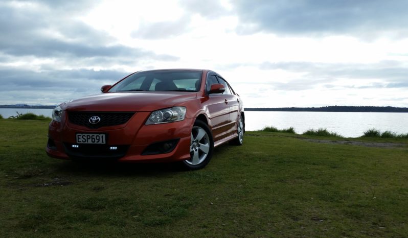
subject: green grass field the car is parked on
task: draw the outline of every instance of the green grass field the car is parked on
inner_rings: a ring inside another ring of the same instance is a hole
[[[49,158],[47,128],[0,119],[0,237],[408,236],[408,139],[247,132],[183,172]]]

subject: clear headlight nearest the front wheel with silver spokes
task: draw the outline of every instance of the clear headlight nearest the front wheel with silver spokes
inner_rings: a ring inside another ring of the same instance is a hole
[[[153,111],[145,125],[183,121],[186,111],[186,107],[172,107]]]

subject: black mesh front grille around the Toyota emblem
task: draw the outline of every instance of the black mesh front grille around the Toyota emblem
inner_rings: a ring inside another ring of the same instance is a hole
[[[68,111],[68,120],[70,123],[89,129],[100,127],[117,126],[127,123],[134,112],[89,112],[89,111]],[[96,124],[89,122],[90,118],[98,116],[100,121]]]

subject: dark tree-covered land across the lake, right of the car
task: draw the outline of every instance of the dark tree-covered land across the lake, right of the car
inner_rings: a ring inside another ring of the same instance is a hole
[[[245,111],[408,112],[408,107],[327,106],[245,108]]]

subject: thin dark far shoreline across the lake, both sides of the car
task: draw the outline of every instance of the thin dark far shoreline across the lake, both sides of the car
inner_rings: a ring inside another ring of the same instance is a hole
[[[54,109],[56,106],[16,106],[0,105],[0,108],[13,109]],[[408,107],[374,107],[374,106],[327,106],[327,107],[249,107],[245,111],[311,111],[311,112],[408,112]]]

